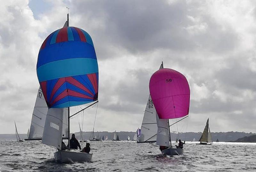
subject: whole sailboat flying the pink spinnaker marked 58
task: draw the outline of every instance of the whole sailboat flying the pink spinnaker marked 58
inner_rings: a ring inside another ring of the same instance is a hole
[[[160,69],[150,79],[149,91],[137,142],[156,142],[163,155],[183,154],[182,148],[172,147],[170,126],[188,117],[190,91],[187,79],[178,71],[164,69],[162,62]],[[169,124],[169,119],[180,117],[183,118]]]

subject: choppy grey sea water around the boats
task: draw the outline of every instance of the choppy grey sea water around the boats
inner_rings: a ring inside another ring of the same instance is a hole
[[[92,142],[92,162],[59,164],[55,150],[40,141],[1,140],[0,171],[256,171],[256,144],[195,143],[186,142],[183,156],[169,157],[146,143]]]

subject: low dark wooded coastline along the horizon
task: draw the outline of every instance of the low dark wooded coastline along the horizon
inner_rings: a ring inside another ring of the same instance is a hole
[[[83,132],[83,138],[85,140],[88,140],[91,135],[91,131]],[[76,138],[80,138],[79,132],[75,132]],[[114,136],[114,132],[108,132],[108,131],[100,131],[100,132],[94,132],[96,136],[99,135],[99,137],[108,136],[108,139],[111,140]],[[135,132],[128,132],[128,131],[120,131],[118,132],[118,136],[121,140],[126,140],[127,137],[129,136],[131,139],[133,138]],[[181,140],[186,140],[186,141],[193,141],[195,138],[196,141],[199,140],[202,132],[185,132],[185,133],[171,133],[171,138],[172,140],[176,140],[176,138],[179,138]],[[27,134],[20,134],[20,138],[24,139],[27,138]],[[245,132],[234,132],[234,131],[229,131],[229,132],[212,132],[212,140],[216,141],[217,139],[220,142],[256,142],[254,141],[254,138],[256,140],[256,133],[245,133]],[[0,140],[6,140],[6,139],[16,139],[15,134],[0,134]],[[252,141],[253,140],[253,141]]]

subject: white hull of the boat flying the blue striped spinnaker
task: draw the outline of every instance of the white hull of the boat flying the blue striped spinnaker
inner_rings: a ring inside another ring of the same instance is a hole
[[[91,153],[80,152],[76,149],[70,149],[65,151],[57,151],[54,153],[55,161],[64,163],[71,161],[78,162],[90,162],[92,160]]]

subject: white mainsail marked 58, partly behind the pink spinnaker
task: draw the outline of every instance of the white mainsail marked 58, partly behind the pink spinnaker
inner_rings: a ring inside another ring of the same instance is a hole
[[[156,109],[151,99],[148,97],[147,106],[141,124],[141,132],[138,143],[155,142],[157,135]]]

